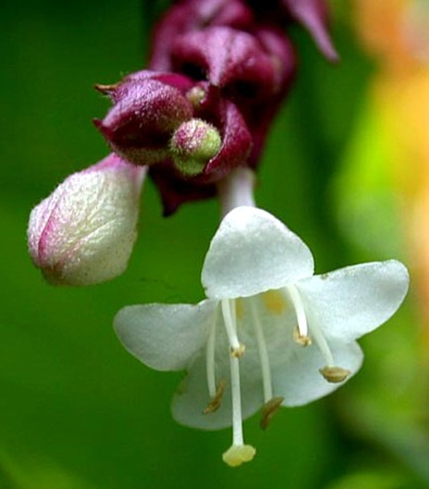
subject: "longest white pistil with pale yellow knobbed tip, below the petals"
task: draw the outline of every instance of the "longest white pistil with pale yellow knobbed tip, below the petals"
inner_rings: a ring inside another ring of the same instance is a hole
[[[230,357],[231,398],[233,410],[233,444],[222,455],[223,461],[230,467],[237,467],[243,462],[250,462],[256,450],[251,445],[244,445],[243,424],[241,417],[240,366],[239,359]]]

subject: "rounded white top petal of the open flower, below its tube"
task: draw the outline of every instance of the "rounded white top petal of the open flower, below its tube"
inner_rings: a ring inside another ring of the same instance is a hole
[[[296,234],[268,212],[243,206],[220,223],[201,280],[208,297],[247,297],[311,276],[313,267]]]

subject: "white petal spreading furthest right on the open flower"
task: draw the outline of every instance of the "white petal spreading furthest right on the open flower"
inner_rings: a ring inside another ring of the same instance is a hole
[[[327,338],[351,341],[369,333],[399,308],[408,290],[408,271],[395,260],[341,268],[302,280],[308,319]]]

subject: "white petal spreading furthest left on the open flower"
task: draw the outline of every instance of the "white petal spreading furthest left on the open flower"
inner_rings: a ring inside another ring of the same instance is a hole
[[[188,367],[207,341],[215,301],[128,306],[113,326],[125,348],[157,370]]]

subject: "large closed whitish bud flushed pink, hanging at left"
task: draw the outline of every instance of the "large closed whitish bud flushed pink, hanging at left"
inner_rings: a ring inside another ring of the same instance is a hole
[[[96,284],[125,270],[145,174],[111,154],[67,177],[32,210],[28,249],[49,283]]]

